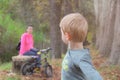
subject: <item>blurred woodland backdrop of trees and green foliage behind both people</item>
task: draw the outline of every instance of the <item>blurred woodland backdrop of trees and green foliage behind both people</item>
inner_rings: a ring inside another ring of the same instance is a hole
[[[92,46],[110,64],[120,64],[119,0],[0,0],[0,62],[18,54],[15,48],[28,25],[34,27],[35,47],[51,47],[51,58],[61,58],[67,46],[61,40],[59,23],[72,12],[88,21],[84,45]]]

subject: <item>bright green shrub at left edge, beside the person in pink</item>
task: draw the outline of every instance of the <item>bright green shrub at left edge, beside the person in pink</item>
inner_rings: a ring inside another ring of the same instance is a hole
[[[0,36],[0,61],[2,62],[11,61],[11,57],[18,54],[16,46],[25,30],[25,24],[17,21],[14,21],[9,14],[0,15],[0,25],[3,29]]]

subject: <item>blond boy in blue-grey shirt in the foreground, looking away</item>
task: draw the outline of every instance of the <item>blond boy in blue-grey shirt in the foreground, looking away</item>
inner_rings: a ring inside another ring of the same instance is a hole
[[[83,48],[88,24],[79,13],[71,13],[60,22],[62,40],[68,51],[62,62],[61,80],[103,80],[92,65],[88,49]]]

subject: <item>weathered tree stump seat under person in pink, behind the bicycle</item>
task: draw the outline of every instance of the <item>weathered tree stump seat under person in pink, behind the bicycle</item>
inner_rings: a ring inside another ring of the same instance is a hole
[[[20,69],[22,65],[31,59],[32,59],[32,56],[13,56],[12,57],[12,72],[21,74]]]

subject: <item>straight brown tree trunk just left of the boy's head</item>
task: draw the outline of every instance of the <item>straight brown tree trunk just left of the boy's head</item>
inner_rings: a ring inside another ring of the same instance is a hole
[[[61,33],[59,29],[61,3],[62,0],[49,0],[52,58],[61,58]]]

